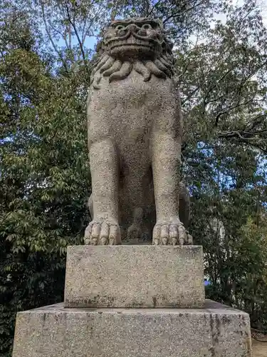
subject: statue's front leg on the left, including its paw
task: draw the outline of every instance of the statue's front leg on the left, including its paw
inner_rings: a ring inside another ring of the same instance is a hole
[[[118,164],[110,139],[90,146],[93,221],[85,229],[85,244],[120,244],[118,224]]]

